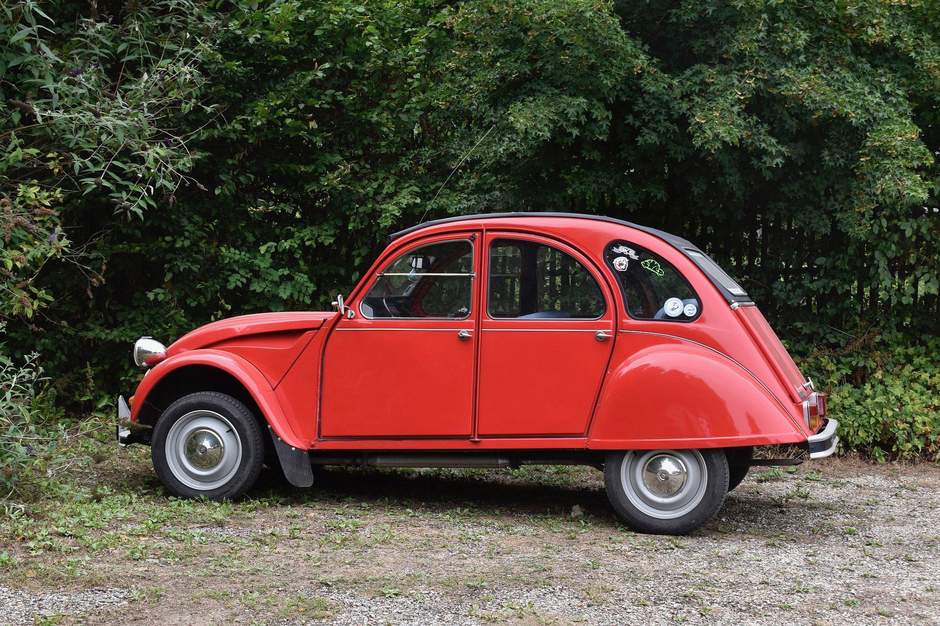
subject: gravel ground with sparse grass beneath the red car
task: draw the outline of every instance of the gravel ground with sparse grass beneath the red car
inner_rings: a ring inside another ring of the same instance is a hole
[[[123,515],[117,531],[0,548],[17,559],[0,567],[0,624],[940,624],[926,464],[752,471],[682,538],[619,527],[587,468],[336,470],[315,496],[267,485],[185,511],[149,471],[118,493],[152,494],[99,513]]]

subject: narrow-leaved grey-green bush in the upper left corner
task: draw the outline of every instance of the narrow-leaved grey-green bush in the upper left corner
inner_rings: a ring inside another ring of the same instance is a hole
[[[211,21],[190,8],[92,4],[85,16],[68,1],[0,1],[0,315],[32,318],[53,301],[55,281],[39,272],[52,258],[76,261],[66,233],[83,213],[128,221],[158,198],[172,205],[197,154],[171,118],[194,107],[195,61],[211,56]],[[73,213],[65,232],[63,212]]]

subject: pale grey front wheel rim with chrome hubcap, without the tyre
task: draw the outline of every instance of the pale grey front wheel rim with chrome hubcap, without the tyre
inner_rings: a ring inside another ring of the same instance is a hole
[[[225,416],[191,411],[166,434],[166,464],[187,487],[209,491],[231,480],[242,463],[242,438]]]

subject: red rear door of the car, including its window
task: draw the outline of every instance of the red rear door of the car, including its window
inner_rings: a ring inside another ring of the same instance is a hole
[[[586,435],[616,335],[606,282],[553,239],[484,244],[478,436]]]

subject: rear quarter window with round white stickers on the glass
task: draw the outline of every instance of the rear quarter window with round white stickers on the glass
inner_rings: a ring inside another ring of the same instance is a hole
[[[623,288],[627,313],[637,319],[688,322],[701,313],[692,286],[662,256],[626,241],[615,241],[604,252]]]

